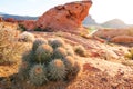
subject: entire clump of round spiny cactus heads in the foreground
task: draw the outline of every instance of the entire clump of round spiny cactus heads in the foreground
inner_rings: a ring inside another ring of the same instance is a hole
[[[80,70],[80,65],[79,67],[75,65],[74,53],[70,55],[69,48],[64,47],[65,42],[61,39],[50,40],[48,42],[43,39],[37,39],[32,49],[22,57],[19,73],[35,86],[49,81],[64,81],[68,76],[76,76],[78,70]],[[23,62],[28,63],[24,68]]]

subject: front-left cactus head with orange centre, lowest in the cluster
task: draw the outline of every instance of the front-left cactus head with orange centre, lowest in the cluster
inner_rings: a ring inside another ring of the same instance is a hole
[[[35,86],[42,86],[48,82],[47,69],[43,65],[34,65],[29,75],[30,81]]]

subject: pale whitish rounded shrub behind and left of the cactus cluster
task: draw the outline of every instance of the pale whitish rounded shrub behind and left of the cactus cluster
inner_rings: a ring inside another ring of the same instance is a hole
[[[32,42],[34,41],[34,36],[25,31],[20,34],[19,40],[24,42]]]

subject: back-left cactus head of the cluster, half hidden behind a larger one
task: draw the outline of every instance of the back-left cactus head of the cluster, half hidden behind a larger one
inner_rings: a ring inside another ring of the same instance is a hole
[[[33,42],[33,46],[32,46],[32,51],[35,51],[37,48],[43,43],[48,43],[47,40],[43,40],[41,38],[38,38],[34,42]]]

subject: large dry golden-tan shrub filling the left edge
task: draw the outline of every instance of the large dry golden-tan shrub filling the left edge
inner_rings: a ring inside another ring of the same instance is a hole
[[[0,29],[0,65],[13,63],[20,57],[22,44],[17,41],[17,31]]]

